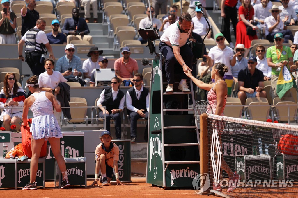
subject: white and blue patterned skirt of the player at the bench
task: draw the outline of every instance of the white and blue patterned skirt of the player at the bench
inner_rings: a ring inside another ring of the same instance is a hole
[[[30,132],[33,139],[45,138],[47,140],[49,137],[63,137],[58,121],[53,114],[33,118]]]

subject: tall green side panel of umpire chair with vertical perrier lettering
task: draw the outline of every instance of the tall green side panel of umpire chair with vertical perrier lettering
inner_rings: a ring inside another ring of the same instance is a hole
[[[162,133],[151,134],[151,131],[163,130],[161,119],[161,84],[162,70],[159,68],[159,58],[155,58],[153,65],[153,81],[150,87],[149,110],[149,140],[147,158],[147,183],[163,186],[163,152]]]

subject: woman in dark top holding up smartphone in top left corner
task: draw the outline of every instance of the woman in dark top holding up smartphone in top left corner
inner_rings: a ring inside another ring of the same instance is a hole
[[[17,26],[15,13],[10,12],[10,1],[2,0],[0,15],[0,44],[16,44],[15,28]]]

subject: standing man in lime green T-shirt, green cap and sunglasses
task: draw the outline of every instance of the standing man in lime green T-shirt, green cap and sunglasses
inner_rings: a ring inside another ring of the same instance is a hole
[[[271,98],[278,97],[276,85],[281,67],[286,66],[288,69],[297,69],[297,66],[293,65],[293,54],[291,48],[283,46],[283,34],[280,32],[276,33],[274,35],[274,40],[275,45],[269,47],[266,52],[267,63],[268,66],[271,67]],[[285,93],[284,97],[291,97],[290,90]]]

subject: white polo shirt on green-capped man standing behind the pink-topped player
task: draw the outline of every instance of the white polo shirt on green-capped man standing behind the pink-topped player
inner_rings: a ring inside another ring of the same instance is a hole
[[[220,48],[218,48],[218,45],[211,48],[208,54],[208,56],[210,56],[211,59],[213,60],[213,64],[217,62],[222,62],[229,67],[229,71],[225,73],[225,75],[227,76],[232,76],[232,68],[230,65],[230,60],[233,59],[233,55],[234,53],[232,48],[226,46],[224,50],[221,50]]]

